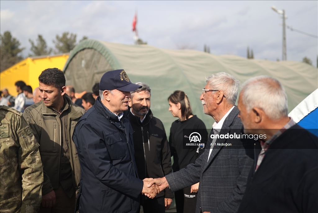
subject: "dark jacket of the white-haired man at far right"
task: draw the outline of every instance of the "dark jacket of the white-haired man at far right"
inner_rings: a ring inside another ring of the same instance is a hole
[[[318,212],[318,138],[294,125],[255,162],[238,212]]]

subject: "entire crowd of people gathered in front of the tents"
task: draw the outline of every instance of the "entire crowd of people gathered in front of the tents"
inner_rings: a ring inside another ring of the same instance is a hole
[[[236,106],[235,76],[210,75],[198,97],[210,134],[184,91],[167,94],[169,137],[150,86],[122,69],[80,95],[57,68],[38,80],[17,81],[16,97],[1,91],[3,211],[163,213],[173,198],[178,213],[318,211],[318,140],[287,116],[276,79],[246,81]],[[185,130],[201,143],[185,148]]]

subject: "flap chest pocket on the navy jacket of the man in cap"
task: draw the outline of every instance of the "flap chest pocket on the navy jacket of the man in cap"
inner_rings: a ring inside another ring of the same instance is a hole
[[[114,132],[105,135],[107,150],[111,159],[119,159],[126,156],[124,142],[121,139],[119,132]]]

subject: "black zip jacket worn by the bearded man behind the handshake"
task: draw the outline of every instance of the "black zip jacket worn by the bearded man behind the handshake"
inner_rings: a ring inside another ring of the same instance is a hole
[[[140,179],[162,178],[172,172],[170,148],[166,131],[161,120],[153,117],[151,110],[143,122],[129,110],[129,120],[133,130],[135,160]],[[173,198],[169,188],[156,197]]]

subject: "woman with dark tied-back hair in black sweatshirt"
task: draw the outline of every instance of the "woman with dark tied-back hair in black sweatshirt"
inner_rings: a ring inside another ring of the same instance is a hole
[[[179,118],[174,121],[170,128],[169,145],[174,163],[174,172],[186,168],[187,165],[195,163],[196,159],[204,152],[204,146],[185,149],[183,139],[189,138],[190,134],[184,129],[193,130],[201,135],[200,143],[206,144],[208,132],[202,120],[193,115],[190,101],[183,91],[177,90],[168,98],[169,111],[173,117]],[[199,183],[175,192],[177,212],[192,213],[196,211],[197,191]]]

